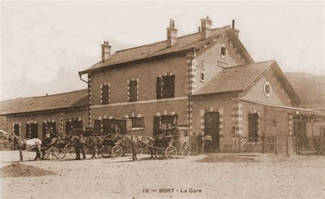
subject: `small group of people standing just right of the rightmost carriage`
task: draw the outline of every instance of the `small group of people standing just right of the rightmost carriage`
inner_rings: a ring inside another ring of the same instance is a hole
[[[212,136],[209,134],[204,135],[204,133],[200,132],[196,135],[196,133],[193,132],[190,142],[191,152],[202,152],[202,146],[204,147],[204,152],[211,152]]]

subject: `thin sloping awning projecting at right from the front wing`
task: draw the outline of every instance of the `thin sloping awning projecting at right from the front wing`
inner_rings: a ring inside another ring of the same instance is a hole
[[[274,105],[274,104],[269,104],[269,103],[261,103],[261,102],[256,102],[256,101],[248,101],[244,99],[240,99],[243,103],[247,103],[250,105],[263,105],[267,107],[274,107],[276,109],[286,109],[288,111],[291,111],[295,114],[306,114],[306,115],[313,115],[313,116],[325,116],[324,112],[321,111],[314,111],[311,109],[302,109],[298,107],[289,107],[285,105]]]

